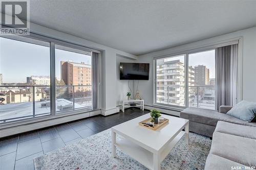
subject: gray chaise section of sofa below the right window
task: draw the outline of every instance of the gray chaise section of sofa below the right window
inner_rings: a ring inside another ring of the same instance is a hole
[[[225,114],[232,107],[221,106],[220,112],[209,109],[189,107],[180,112],[180,117],[189,119],[189,131],[212,137],[219,120],[239,125],[256,127],[256,122],[248,123],[236,117]]]

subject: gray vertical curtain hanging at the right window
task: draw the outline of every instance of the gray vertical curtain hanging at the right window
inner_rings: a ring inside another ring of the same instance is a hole
[[[238,44],[222,46],[215,50],[216,110],[221,105],[237,103]]]

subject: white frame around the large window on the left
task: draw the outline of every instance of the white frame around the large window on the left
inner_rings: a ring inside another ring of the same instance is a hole
[[[26,122],[27,120],[29,119],[38,119],[38,118],[42,118],[42,117],[50,117],[51,118],[55,118],[55,117],[64,117],[64,116],[67,116],[67,115],[73,115],[73,114],[79,114],[79,113],[86,113],[86,112],[92,112],[92,111],[95,111],[95,110],[98,110],[99,109],[99,101],[97,100],[96,104],[92,102],[92,109],[88,109],[88,108],[81,108],[81,109],[74,109],[74,110],[71,110],[71,111],[66,111],[66,112],[63,112],[62,114],[56,114],[56,108],[55,108],[55,44],[57,45],[61,45],[61,46],[66,46],[68,48],[73,48],[74,50],[77,50],[77,51],[85,51],[85,52],[92,52],[92,53],[98,53],[98,59],[97,59],[97,63],[95,64],[96,65],[96,68],[93,68],[92,70],[92,74],[93,72],[97,72],[97,77],[96,77],[96,81],[95,81],[95,85],[93,84],[93,81],[92,81],[92,88],[93,86],[96,86],[98,87],[98,83],[99,83],[99,64],[100,64],[100,56],[101,56],[101,52],[98,51],[98,50],[95,50],[94,48],[89,48],[89,47],[86,47],[86,46],[81,46],[81,45],[78,45],[78,44],[75,44],[75,43],[72,43],[72,42],[67,42],[67,41],[63,41],[63,40],[58,40],[58,39],[55,39],[55,38],[51,38],[51,37],[47,37],[47,36],[43,36],[43,35],[39,35],[39,34],[35,34],[35,33],[30,33],[29,36],[19,36],[19,35],[11,35],[11,34],[6,34],[6,35],[1,35],[1,37],[3,38],[8,38],[8,39],[12,39],[12,40],[17,40],[17,41],[22,41],[22,42],[26,42],[26,43],[32,43],[32,44],[37,44],[37,45],[44,45],[44,43],[50,43],[50,48],[49,48],[49,53],[50,53],[50,58],[49,58],[49,61],[50,61],[50,97],[51,97],[51,104],[50,104],[50,113],[47,114],[47,115],[39,115],[39,114],[36,114],[35,116],[35,111],[33,110],[33,115],[31,116],[28,116],[28,117],[15,117],[15,118],[11,118],[11,119],[6,119],[6,120],[3,120],[4,122],[3,123],[0,123],[0,125],[7,125],[7,124],[15,124],[17,122]],[[46,45],[44,45],[46,46]],[[48,45],[47,45],[48,46]],[[92,55],[92,58],[93,58],[93,55]],[[93,59],[92,59],[93,61]],[[92,63],[93,65],[93,63]],[[92,79],[92,76],[91,76],[91,79]],[[33,87],[33,86],[31,86]],[[96,96],[97,99],[99,99],[99,89],[97,89],[97,91],[94,91],[96,92],[96,94],[92,94],[92,98],[93,96]],[[93,93],[93,91],[92,91]],[[93,101],[93,99],[92,99]],[[96,107],[94,106],[96,105]],[[2,122],[2,121],[1,121]]]

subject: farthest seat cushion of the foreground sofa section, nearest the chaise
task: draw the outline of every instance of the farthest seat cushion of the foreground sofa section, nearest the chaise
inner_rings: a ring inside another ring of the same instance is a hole
[[[242,137],[247,137],[251,139],[256,139],[256,127],[244,126],[238,124],[231,124],[228,122],[219,121],[217,123],[216,132],[227,133],[230,135],[237,135]]]

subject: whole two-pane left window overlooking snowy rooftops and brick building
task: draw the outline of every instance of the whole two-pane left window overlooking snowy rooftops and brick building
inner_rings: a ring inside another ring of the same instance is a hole
[[[97,108],[97,53],[43,39],[0,37],[0,124]]]

